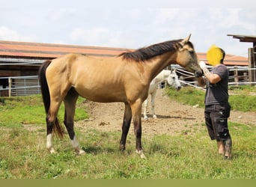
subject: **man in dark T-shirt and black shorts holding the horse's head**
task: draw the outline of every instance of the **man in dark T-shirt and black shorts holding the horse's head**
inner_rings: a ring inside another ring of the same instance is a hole
[[[213,66],[209,71],[204,63],[199,65],[204,77],[198,79],[199,85],[207,85],[204,104],[204,117],[208,133],[217,141],[219,153],[231,159],[232,141],[228,131],[228,117],[231,106],[228,103],[228,68],[223,64],[225,52],[213,45],[207,52],[207,60]]]

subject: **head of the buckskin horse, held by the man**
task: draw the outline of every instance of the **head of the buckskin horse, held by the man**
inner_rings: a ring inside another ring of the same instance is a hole
[[[186,37],[180,42],[180,49],[177,52],[177,64],[184,67],[189,72],[195,73],[195,77],[202,76],[202,70],[198,64],[198,56],[196,55],[193,44],[189,41],[189,37]]]

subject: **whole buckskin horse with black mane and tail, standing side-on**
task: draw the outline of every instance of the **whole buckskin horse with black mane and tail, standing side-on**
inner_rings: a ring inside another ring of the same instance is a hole
[[[124,102],[124,119],[120,150],[126,149],[131,120],[134,124],[136,153],[146,158],[141,146],[141,105],[147,98],[153,78],[170,64],[179,64],[186,70],[201,75],[198,58],[189,37],[169,40],[124,52],[112,58],[94,58],[89,55],[67,54],[40,67],[43,104],[46,111],[46,147],[52,147],[52,132],[63,136],[57,114],[64,101],[64,125],[71,144],[78,154],[85,153],[74,132],[76,100],[82,96],[94,102]]]

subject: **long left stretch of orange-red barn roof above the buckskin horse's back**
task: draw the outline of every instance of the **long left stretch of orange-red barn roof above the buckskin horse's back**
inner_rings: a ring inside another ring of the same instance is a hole
[[[111,57],[124,51],[127,51],[127,49],[0,40],[0,55],[6,55],[9,57],[58,58],[67,53]]]

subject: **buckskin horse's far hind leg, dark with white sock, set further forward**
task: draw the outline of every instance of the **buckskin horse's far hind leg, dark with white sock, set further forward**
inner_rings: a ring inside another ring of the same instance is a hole
[[[74,115],[76,110],[76,100],[79,95],[76,93],[74,88],[71,88],[68,91],[67,96],[64,98],[65,105],[65,115],[64,115],[64,124],[67,128],[68,135],[70,136],[71,144],[76,153],[79,155],[84,154],[85,151],[80,148],[79,142],[76,140],[76,135],[74,132]]]

